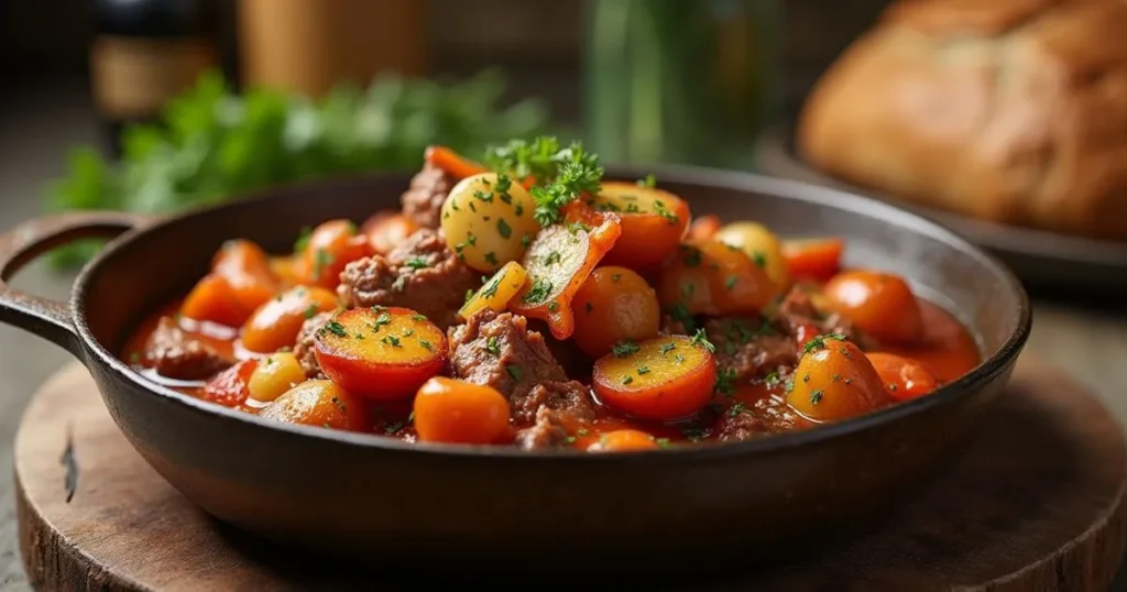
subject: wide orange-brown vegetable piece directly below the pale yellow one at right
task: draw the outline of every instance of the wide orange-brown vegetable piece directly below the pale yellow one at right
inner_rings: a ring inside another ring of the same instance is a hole
[[[683,244],[662,271],[658,299],[692,315],[757,312],[777,288],[743,250],[715,240]]]

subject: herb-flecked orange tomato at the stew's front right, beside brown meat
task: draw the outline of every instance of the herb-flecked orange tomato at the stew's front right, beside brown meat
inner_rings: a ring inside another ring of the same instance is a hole
[[[840,335],[806,345],[788,388],[787,404],[815,422],[854,417],[890,403],[872,362]]]

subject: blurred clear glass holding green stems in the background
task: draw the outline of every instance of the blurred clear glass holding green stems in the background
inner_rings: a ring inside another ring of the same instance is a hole
[[[748,168],[781,100],[781,0],[588,0],[587,140],[607,162]]]

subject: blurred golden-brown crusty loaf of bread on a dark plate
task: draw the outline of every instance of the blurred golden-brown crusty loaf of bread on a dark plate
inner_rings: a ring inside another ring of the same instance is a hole
[[[890,196],[1127,240],[1127,1],[895,3],[818,81],[796,144]]]

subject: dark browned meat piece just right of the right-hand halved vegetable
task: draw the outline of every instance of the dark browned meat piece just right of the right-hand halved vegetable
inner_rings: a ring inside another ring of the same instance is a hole
[[[720,372],[735,381],[786,373],[798,364],[798,343],[757,316],[719,317],[704,322]]]

